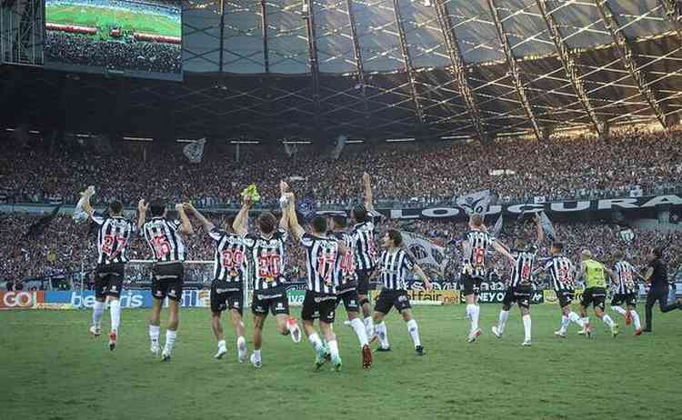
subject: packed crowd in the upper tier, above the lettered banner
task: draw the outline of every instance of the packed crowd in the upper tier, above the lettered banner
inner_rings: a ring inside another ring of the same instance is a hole
[[[150,148],[145,159],[120,145],[110,155],[86,143],[49,150],[40,145],[6,148],[0,152],[0,195],[12,202],[54,198],[75,203],[78,190],[95,185],[100,202],[117,198],[134,205],[140,197],[160,196],[200,206],[236,205],[239,192],[255,183],[264,205],[275,205],[278,181],[295,176],[291,184],[301,195],[317,205],[341,206],[361,195],[360,175],[367,171],[380,202],[424,205],[481,189],[493,190],[501,202],[527,202],[537,196],[627,196],[639,189],[671,191],[680,188],[682,178],[680,133],[670,139],[633,131],[609,140],[510,140],[425,145],[419,150],[348,145],[334,162],[320,150],[287,157],[282,150],[254,146],[242,151],[237,164],[231,149],[209,142],[203,162],[192,165],[179,145],[156,152],[153,147],[160,145],[145,147]],[[504,175],[494,175],[500,172]]]

